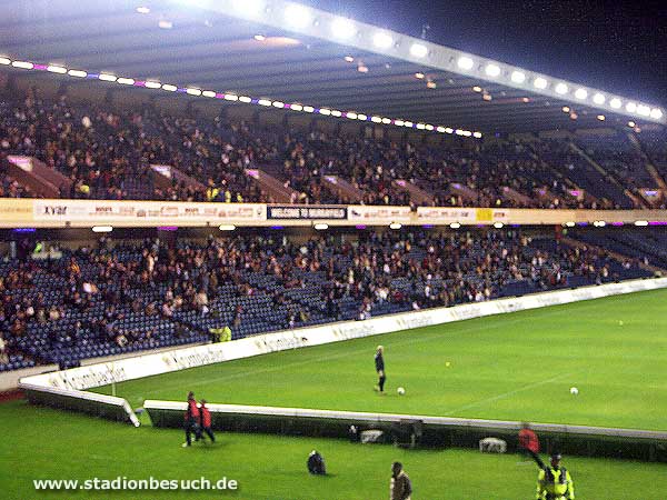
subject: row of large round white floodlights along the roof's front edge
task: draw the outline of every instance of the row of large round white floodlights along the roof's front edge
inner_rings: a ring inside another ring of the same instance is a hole
[[[236,11],[249,17],[257,17],[267,7],[262,0],[233,0],[232,4]],[[296,3],[287,6],[283,11],[283,18],[285,22],[293,28],[306,28],[310,24],[319,26],[320,22],[313,17],[313,13],[310,9]],[[347,18],[335,18],[329,24],[329,30],[331,36],[339,40],[349,40],[355,36],[361,34],[360,29],[357,27],[355,21]],[[385,30],[376,31],[371,38],[374,46],[378,49],[387,50],[391,47],[399,47],[397,40],[395,40],[394,37]],[[429,48],[424,43],[419,43],[418,41],[410,44],[409,52],[410,56],[417,59],[424,59],[431,54]],[[470,56],[460,56],[456,60],[456,66],[466,72],[472,71],[477,66],[480,72],[495,80],[508,79],[512,83],[517,84],[525,84],[528,80],[528,76],[524,71],[509,66],[504,68],[495,62],[487,62],[486,64],[482,62],[477,62]],[[581,102],[590,99],[595,104],[603,106],[608,101],[608,106],[611,109],[619,110],[625,107],[625,110],[628,113],[645,118],[650,117],[655,120],[660,120],[664,116],[663,110],[659,108],[651,109],[648,104],[637,103],[634,101],[624,102],[618,97],[607,97],[601,92],[595,92],[591,94],[591,92],[589,92],[589,90],[586,88],[570,88],[569,83],[558,81],[557,79],[549,80],[541,76],[535,76],[531,80],[531,84],[538,90],[547,90],[551,88],[554,92],[563,97],[574,96],[577,101]]]

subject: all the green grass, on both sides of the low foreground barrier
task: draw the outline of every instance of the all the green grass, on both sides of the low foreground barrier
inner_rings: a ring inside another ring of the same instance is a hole
[[[182,400],[193,390],[211,402],[666,430],[666,299],[667,291],[644,292],[272,353],[121,383],[117,393],[133,407],[145,399]],[[386,347],[385,397],[372,390],[378,343]],[[398,386],[406,396],[396,394]],[[414,500],[511,500],[534,498],[537,476],[515,454],[341,440],[219,433],[213,447],[182,449],[178,429],[135,429],[22,401],[0,404],[0,419],[3,499],[375,500],[388,498],[390,463],[401,460]],[[330,477],[306,472],[313,448],[327,459]],[[667,498],[665,464],[579,457],[566,457],[565,464],[579,499]],[[37,493],[32,487],[39,478],[117,476],[226,476],[240,489]]]

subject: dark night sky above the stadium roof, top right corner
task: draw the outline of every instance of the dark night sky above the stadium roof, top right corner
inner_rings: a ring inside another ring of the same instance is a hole
[[[667,1],[299,0],[359,21],[667,104]]]

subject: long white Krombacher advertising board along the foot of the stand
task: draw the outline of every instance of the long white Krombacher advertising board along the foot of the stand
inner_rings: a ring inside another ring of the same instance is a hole
[[[21,379],[19,387],[30,386],[32,389],[42,387],[72,391],[84,390],[112,382],[140,379],[269,352],[658,288],[667,288],[667,278],[634,280],[576,290],[558,290],[520,298],[468,303],[452,308],[391,314],[366,321],[348,321],[277,333],[266,333],[231,342],[196,346],[27,377]]]

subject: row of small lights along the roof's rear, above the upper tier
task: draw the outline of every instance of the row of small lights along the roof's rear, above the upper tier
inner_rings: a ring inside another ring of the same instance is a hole
[[[189,96],[195,97],[206,97],[212,99],[223,99],[226,101],[232,102],[243,102],[247,104],[256,104],[262,106],[266,108],[278,108],[278,109],[289,109],[291,111],[305,112],[305,113],[315,113],[321,114],[325,117],[335,117],[335,118],[347,118],[349,120],[358,120],[358,121],[370,121],[372,123],[378,124],[394,124],[396,127],[406,127],[408,129],[417,129],[429,132],[439,132],[439,133],[449,133],[461,137],[474,137],[476,139],[481,138],[481,132],[472,132],[470,130],[464,129],[455,129],[452,127],[442,127],[442,126],[434,126],[430,123],[420,123],[410,120],[401,120],[395,118],[387,118],[374,114],[365,114],[358,113],[355,111],[339,111],[336,109],[329,108],[316,108],[313,106],[305,106],[300,103],[289,103],[281,101],[273,101],[270,99],[257,99],[248,96],[237,96],[235,93],[222,93],[216,92],[213,90],[201,90],[191,87],[178,87],[171,83],[161,83],[159,81],[150,81],[150,80],[136,80],[133,78],[127,77],[117,77],[116,74],[110,73],[90,73],[82,70],[76,69],[67,69],[61,66],[53,64],[37,64],[29,61],[12,61],[8,58],[0,57],[0,66],[12,66],[14,68],[20,68],[24,70],[36,70],[36,71],[48,71],[57,74],[69,74],[74,78],[86,78],[90,80],[100,80],[109,83],[119,83],[122,86],[132,86],[132,87],[141,87],[146,89],[155,89],[155,90],[165,90],[168,92],[180,92],[187,93]]]

